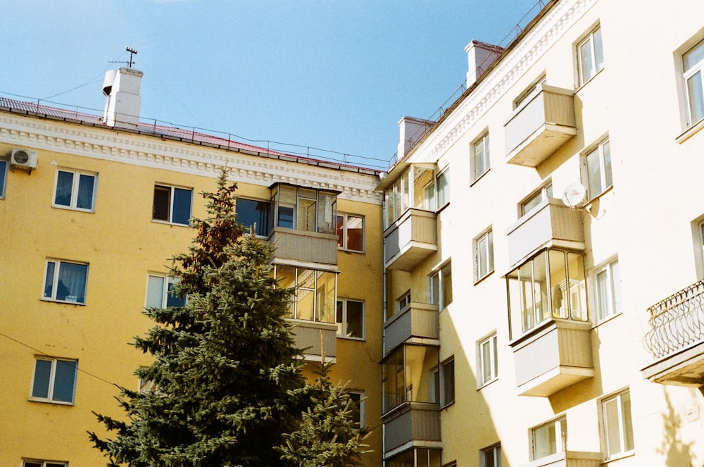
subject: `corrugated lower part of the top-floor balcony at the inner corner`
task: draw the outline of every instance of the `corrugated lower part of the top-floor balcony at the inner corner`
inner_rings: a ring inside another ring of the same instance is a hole
[[[437,249],[437,216],[432,211],[408,208],[384,231],[387,269],[412,270]]]

